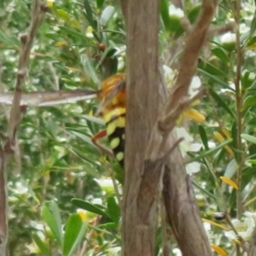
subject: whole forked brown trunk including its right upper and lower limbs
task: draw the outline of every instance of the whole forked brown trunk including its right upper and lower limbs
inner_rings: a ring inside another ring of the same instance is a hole
[[[157,86],[159,18],[155,2],[130,0],[123,6],[128,36],[123,255],[154,254],[157,193],[163,166],[168,222],[183,255],[212,255],[178,142],[170,132],[183,109],[195,100],[189,99],[189,84],[217,3],[203,1],[201,15],[184,47],[177,82],[155,122],[165,97]]]

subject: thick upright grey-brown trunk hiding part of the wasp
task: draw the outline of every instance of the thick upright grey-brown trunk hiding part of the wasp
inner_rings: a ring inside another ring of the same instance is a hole
[[[123,255],[154,255],[158,166],[144,164],[158,117],[159,1],[127,1],[127,123]]]

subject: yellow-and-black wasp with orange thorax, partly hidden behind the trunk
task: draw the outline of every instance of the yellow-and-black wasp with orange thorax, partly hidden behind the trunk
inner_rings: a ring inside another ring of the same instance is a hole
[[[0,103],[12,104],[14,93],[0,94]],[[125,158],[125,73],[117,73],[102,82],[100,90],[38,91],[22,93],[20,106],[53,106],[97,98],[100,102],[97,114],[105,121],[106,129],[100,131],[92,142],[107,154],[107,148],[97,143],[108,137],[110,148],[120,166]]]

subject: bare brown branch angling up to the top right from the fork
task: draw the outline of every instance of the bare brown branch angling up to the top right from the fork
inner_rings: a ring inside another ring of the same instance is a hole
[[[162,131],[172,131],[172,128],[176,125],[176,119],[173,117],[177,117],[183,112],[182,105],[188,98],[189,84],[195,74],[198,55],[201,46],[206,40],[216,4],[216,0],[205,0],[202,3],[201,15],[189,34],[176,84],[169,96],[166,109],[159,122],[160,130]],[[173,108],[176,108],[176,112],[173,112],[172,116],[169,113]]]

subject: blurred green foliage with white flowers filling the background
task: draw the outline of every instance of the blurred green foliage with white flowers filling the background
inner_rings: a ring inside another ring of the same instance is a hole
[[[116,1],[48,5],[33,44],[25,91],[98,90],[100,81],[125,72],[125,25]],[[183,17],[194,23],[200,8],[200,3],[189,1],[183,8],[161,1],[161,69],[169,87],[177,77],[189,32]],[[0,9],[0,90],[12,91],[19,37],[29,26],[31,1],[5,0]],[[254,9],[250,1],[237,0],[236,6],[219,3],[190,96],[201,87],[206,93],[192,106],[197,110],[186,111],[177,121],[201,217],[212,248],[220,255],[230,254],[236,244],[246,251],[244,241],[250,239],[256,219]],[[10,255],[119,252],[122,170],[91,143],[90,138],[104,128],[94,115],[97,106],[91,100],[26,109],[17,135],[19,146],[8,167]],[[9,109],[0,109],[2,142]],[[159,229],[156,254],[160,247]],[[172,253],[180,255],[176,247],[173,241]]]

